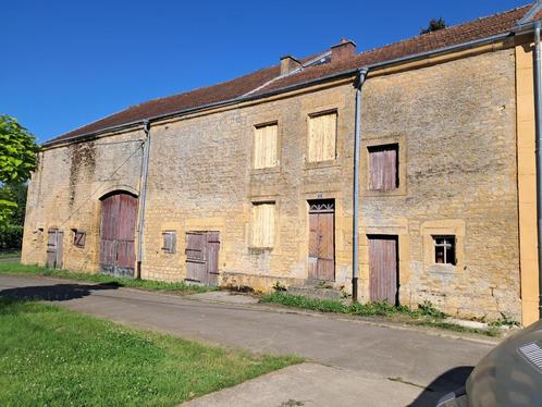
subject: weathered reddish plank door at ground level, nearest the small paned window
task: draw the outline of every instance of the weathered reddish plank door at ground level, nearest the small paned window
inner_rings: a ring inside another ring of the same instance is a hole
[[[398,301],[397,236],[369,237],[369,291],[371,301]]]

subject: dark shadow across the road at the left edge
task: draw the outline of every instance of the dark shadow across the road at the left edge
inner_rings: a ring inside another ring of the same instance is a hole
[[[30,287],[7,288],[0,291],[0,297],[36,301],[66,301],[83,298],[94,291],[116,289],[116,283],[84,285],[84,284],[57,284]]]

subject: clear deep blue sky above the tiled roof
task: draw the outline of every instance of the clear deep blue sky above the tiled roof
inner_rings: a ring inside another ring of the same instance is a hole
[[[40,141],[131,104],[305,57],[340,38],[358,51],[522,0],[7,1],[0,113]]]

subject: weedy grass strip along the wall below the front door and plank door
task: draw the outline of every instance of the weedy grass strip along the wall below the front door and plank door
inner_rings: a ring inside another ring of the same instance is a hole
[[[293,308],[310,309],[320,312],[346,313],[361,317],[382,317],[392,322],[402,322],[411,325],[440,328],[455,332],[500,336],[498,326],[489,326],[486,330],[463,326],[446,321],[447,314],[434,308],[430,303],[423,303],[417,309],[405,306],[392,306],[386,301],[368,304],[346,304],[337,299],[312,298],[304,295],[292,295],[284,292],[264,294],[261,303],[280,304]]]

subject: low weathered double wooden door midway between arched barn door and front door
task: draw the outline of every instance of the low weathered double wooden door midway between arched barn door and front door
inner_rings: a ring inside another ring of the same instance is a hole
[[[186,280],[217,285],[219,249],[219,232],[186,232]]]

